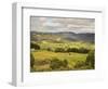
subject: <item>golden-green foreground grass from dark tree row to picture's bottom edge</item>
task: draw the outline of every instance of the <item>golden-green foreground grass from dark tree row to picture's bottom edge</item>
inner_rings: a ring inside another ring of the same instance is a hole
[[[68,61],[68,68],[69,69],[75,69],[75,65],[78,62],[85,62],[86,55],[83,53],[75,53],[75,52],[69,52],[69,53],[62,53],[62,52],[52,52],[52,51],[45,51],[45,50],[39,50],[39,51],[33,51],[31,52],[32,55],[35,56],[35,66],[33,71],[31,72],[44,72],[44,71],[52,71],[50,68],[50,63],[49,61],[57,58],[58,60],[67,60]],[[39,64],[42,61],[48,61],[46,63]],[[65,68],[63,68],[64,71]]]

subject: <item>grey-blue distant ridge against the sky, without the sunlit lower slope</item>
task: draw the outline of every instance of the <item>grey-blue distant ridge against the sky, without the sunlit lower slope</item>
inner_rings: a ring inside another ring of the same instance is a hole
[[[72,33],[72,31],[57,31],[57,33],[41,33],[41,31],[30,31],[30,36],[31,36],[31,40],[38,40],[38,37],[37,38],[33,38],[33,36],[37,36],[37,35],[51,35],[52,37],[53,36],[57,36],[62,39],[65,39],[65,40],[70,40],[70,41],[87,41],[87,42],[94,42],[95,40],[95,34],[94,33],[79,33],[79,34],[76,34],[76,33]],[[49,38],[44,38],[41,37],[43,39],[49,39]]]

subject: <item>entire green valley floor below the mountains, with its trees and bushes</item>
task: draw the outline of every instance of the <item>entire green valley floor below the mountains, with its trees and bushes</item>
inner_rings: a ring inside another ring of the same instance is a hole
[[[94,68],[94,64],[91,65],[91,61],[86,61],[91,50],[94,50],[94,43],[82,41],[53,42],[42,40],[38,42],[32,41],[31,44],[39,47],[38,49],[30,48],[31,72]]]

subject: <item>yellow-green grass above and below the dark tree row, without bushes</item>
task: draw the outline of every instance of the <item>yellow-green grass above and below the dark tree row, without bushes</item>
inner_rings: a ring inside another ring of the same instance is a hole
[[[35,56],[36,62],[38,61],[44,61],[44,60],[52,60],[54,58],[57,58],[59,60],[67,60],[68,66],[73,68],[73,66],[80,61],[85,62],[86,60],[86,53],[76,53],[76,52],[53,52],[53,51],[46,51],[48,48],[54,50],[56,48],[86,48],[86,49],[94,49],[93,43],[89,42],[82,42],[82,41],[73,41],[73,42],[64,42],[64,43],[57,43],[52,41],[41,41],[38,42],[38,44],[41,47],[41,50],[32,51],[31,53]],[[44,65],[35,65],[36,72],[39,71],[49,71],[50,64]]]

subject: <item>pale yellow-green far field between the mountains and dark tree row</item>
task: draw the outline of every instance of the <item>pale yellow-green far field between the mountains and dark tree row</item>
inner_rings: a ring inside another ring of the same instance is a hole
[[[39,42],[39,46],[41,49],[45,50],[48,48],[52,48],[54,50],[55,48],[86,48],[86,49],[94,49],[94,44],[89,42],[82,42],[82,41],[76,41],[76,42],[65,42],[65,43],[55,43],[55,42],[48,42],[42,41]]]

